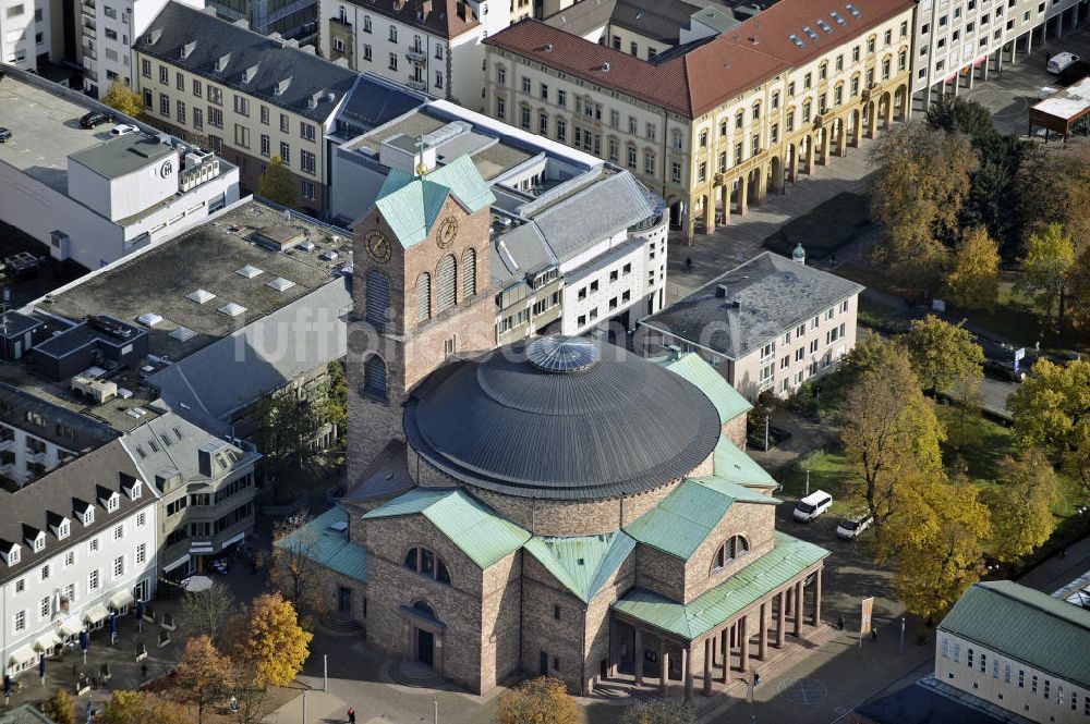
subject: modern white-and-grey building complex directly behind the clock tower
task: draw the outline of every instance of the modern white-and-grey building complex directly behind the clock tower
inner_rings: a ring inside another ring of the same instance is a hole
[[[496,343],[609,321],[635,328],[664,303],[667,213],[629,171],[444,100],[342,144],[336,219],[360,218],[388,177],[446,183],[474,169],[492,204]],[[572,223],[572,219],[579,219]]]

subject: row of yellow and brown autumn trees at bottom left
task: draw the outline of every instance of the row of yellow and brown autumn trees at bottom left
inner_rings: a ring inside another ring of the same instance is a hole
[[[206,633],[189,638],[161,691],[114,691],[100,724],[202,724],[232,697],[237,721],[257,724],[270,713],[269,687],[289,685],[302,670],[313,636],[279,593],[259,596],[241,612],[221,587],[186,596],[186,629]],[[74,702],[63,689],[43,711],[57,724],[76,722]]]

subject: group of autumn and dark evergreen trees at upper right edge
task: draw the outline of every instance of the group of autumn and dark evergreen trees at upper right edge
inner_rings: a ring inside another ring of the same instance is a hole
[[[1001,266],[1018,266],[1061,329],[1068,307],[1090,321],[1090,151],[1002,136],[986,109],[953,98],[872,154],[871,216],[887,230],[875,256],[896,281],[989,309]]]

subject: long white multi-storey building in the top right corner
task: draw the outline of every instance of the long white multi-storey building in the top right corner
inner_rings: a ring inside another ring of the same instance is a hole
[[[1063,36],[1086,0],[919,0],[912,41],[912,97],[927,110],[943,95],[972,88],[1004,62],[1029,56],[1034,36]],[[1040,33],[1038,30],[1040,29]],[[1041,63],[1042,68],[1044,63]]]

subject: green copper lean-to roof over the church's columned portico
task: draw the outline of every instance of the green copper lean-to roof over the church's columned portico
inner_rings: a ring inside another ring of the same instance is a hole
[[[688,605],[644,588],[633,588],[613,603],[618,612],[673,634],[697,639],[821,562],[828,551],[776,532],[776,545]]]

